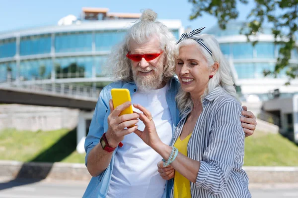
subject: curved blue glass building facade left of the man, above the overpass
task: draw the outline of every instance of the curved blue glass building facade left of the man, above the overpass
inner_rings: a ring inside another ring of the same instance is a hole
[[[6,36],[9,38],[4,39],[0,34],[0,83],[104,77],[103,66],[107,55],[127,32],[127,27],[117,26],[96,29],[89,25],[89,30],[84,25],[82,28],[80,25],[70,26],[70,30],[65,26],[63,31],[59,31],[61,28],[58,27],[54,33],[41,31],[41,28],[33,31],[43,32],[40,34],[26,35],[24,30],[19,37],[14,37],[15,32],[12,32],[10,37],[9,34]],[[170,28],[176,39],[180,28]]]

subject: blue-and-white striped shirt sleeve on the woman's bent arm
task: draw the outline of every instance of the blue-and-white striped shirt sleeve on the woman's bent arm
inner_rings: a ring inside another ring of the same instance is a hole
[[[240,117],[239,103],[228,100],[219,105],[211,127],[209,145],[200,161],[197,187],[215,195],[225,190],[237,149],[244,142]]]

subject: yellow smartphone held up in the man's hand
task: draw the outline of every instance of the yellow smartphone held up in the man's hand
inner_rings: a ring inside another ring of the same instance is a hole
[[[112,89],[111,94],[112,94],[114,109],[117,106],[123,104],[124,102],[132,101],[128,89]],[[133,113],[133,112],[134,112],[133,111],[133,106],[130,105],[128,108],[121,111],[120,115],[130,114],[130,113]]]

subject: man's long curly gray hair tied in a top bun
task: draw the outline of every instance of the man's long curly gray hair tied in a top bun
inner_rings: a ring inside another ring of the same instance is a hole
[[[155,21],[157,14],[151,9],[145,9],[140,21],[135,23],[127,32],[124,42],[112,50],[106,66],[112,70],[114,80],[133,81],[131,60],[126,57],[130,51],[130,42],[146,43],[150,37],[157,36],[160,49],[164,54],[163,78],[168,79],[175,73],[175,37],[161,22]]]

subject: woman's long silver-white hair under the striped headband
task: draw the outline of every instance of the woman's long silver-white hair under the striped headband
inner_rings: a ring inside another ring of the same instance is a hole
[[[211,67],[215,62],[219,63],[218,71],[213,78],[209,80],[208,86],[205,89],[204,94],[201,96],[201,101],[203,101],[203,99],[217,86],[223,87],[226,93],[238,99],[230,73],[230,65],[224,57],[218,41],[212,35],[208,34],[202,34],[196,37],[203,39],[204,44],[211,49],[212,55],[193,39],[182,41],[178,45],[178,49],[182,46],[196,45],[205,57],[208,67]],[[181,88],[176,96],[176,101],[181,115],[185,114],[188,109],[193,109],[193,101],[190,98],[190,93],[184,92]]]

